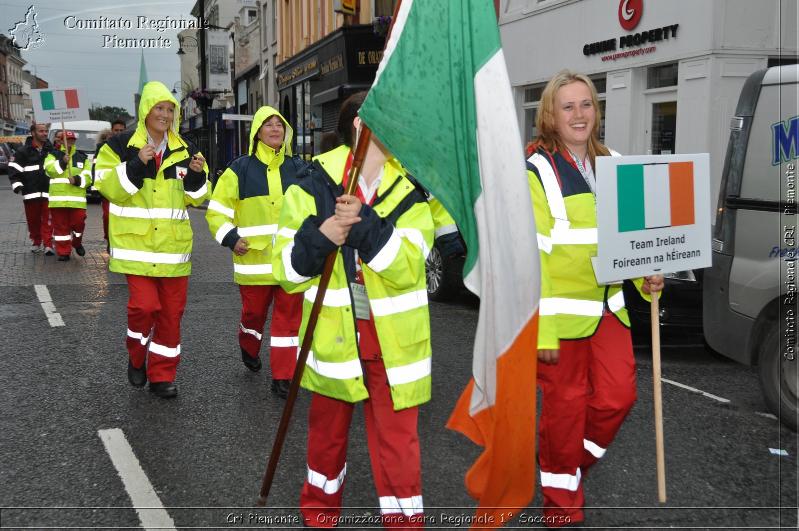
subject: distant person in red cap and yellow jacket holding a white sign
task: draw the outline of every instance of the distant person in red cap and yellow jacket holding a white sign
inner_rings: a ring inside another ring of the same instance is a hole
[[[45,159],[50,177],[50,214],[53,217],[55,250],[58,260],[70,259],[70,244],[78,256],[85,256],[83,230],[86,226],[86,188],[92,182],[89,157],[75,150],[75,134],[64,132],[61,150]]]

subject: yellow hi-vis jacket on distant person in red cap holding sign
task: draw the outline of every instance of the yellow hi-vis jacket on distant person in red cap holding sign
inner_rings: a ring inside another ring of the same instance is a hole
[[[70,166],[75,182],[70,184],[70,172],[64,164],[64,154],[66,145],[62,144],[60,151],[50,153],[45,159],[45,171],[50,178],[50,208],[85,209],[86,189],[92,184],[89,157],[72,146]]]

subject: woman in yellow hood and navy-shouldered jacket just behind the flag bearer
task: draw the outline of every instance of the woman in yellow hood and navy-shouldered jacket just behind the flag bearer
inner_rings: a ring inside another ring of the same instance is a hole
[[[272,393],[288,395],[299,341],[302,294],[286,293],[272,274],[272,237],[288,186],[304,162],[292,158],[292,128],[272,107],[252,118],[250,148],[233,160],[213,188],[205,219],[217,242],[233,251],[233,280],[241,295],[241,360],[259,371],[258,353],[272,300],[269,366]]]

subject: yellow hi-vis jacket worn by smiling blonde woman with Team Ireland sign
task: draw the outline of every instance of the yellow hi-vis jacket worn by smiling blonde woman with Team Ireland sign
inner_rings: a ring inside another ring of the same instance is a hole
[[[527,180],[541,253],[538,348],[559,349],[559,339],[594,335],[605,309],[629,328],[622,285],[598,285],[594,276],[596,208],[580,171],[559,152],[539,147],[527,159]],[[640,291],[643,279],[633,282]]]

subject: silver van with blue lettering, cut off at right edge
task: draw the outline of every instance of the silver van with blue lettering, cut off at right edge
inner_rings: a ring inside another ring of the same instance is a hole
[[[797,155],[799,66],[746,80],[730,124],[713,238],[705,269],[708,344],[758,366],[769,409],[799,424],[797,372]]]

